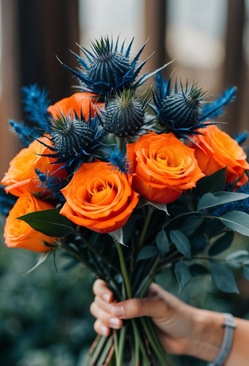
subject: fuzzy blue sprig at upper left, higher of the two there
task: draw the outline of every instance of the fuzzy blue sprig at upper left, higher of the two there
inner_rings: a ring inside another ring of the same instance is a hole
[[[50,105],[50,100],[48,99],[48,92],[45,87],[40,89],[37,84],[24,86],[22,88],[23,94],[23,110],[28,113],[27,119],[38,124],[43,130],[50,125],[49,113],[47,108]]]

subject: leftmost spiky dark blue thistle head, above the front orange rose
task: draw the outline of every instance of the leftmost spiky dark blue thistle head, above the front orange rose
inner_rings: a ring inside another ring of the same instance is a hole
[[[80,117],[75,111],[74,114],[74,120],[63,115],[55,119],[50,132],[50,141],[54,146],[39,141],[53,152],[43,156],[57,159],[52,164],[64,163],[59,169],[67,168],[68,172],[76,172],[86,159],[91,161],[96,149],[102,145],[100,142],[102,131],[98,127],[96,113],[94,117],[91,115],[91,107],[88,120],[82,111]]]

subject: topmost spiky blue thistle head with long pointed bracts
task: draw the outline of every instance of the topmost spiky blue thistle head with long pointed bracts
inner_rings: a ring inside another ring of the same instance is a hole
[[[133,39],[126,51],[124,51],[125,41],[122,43],[120,51],[118,51],[119,37],[117,38],[115,47],[112,38],[110,42],[108,36],[105,38],[101,37],[100,41],[95,40],[95,42],[91,42],[92,52],[79,46],[88,62],[72,52],[80,64],[80,68],[77,71],[72,70],[59,61],[67,70],[83,82],[82,90],[105,95],[115,89],[136,88],[167,65],[162,66],[150,74],[147,73],[135,81],[148,59],[138,64],[139,57],[147,43],[146,41],[135,58],[130,60],[130,49]]]

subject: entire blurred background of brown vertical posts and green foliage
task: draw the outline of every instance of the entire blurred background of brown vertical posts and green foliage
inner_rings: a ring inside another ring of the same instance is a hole
[[[20,121],[21,87],[37,82],[50,92],[51,104],[73,94],[76,79],[55,55],[74,68],[78,44],[120,34],[132,55],[148,37],[142,54],[153,52],[144,71],[175,59],[165,70],[183,83],[199,81],[209,94],[237,85],[237,100],[221,120],[231,135],[249,124],[249,0],[0,0],[0,175],[20,150],[8,118]],[[2,238],[2,235],[1,235]],[[237,236],[237,249],[248,238]],[[234,247],[233,247],[234,249]],[[84,366],[94,338],[89,304],[94,278],[83,267],[67,270],[68,259],[52,256],[22,277],[39,255],[0,245],[0,365]],[[249,283],[237,273],[240,295],[217,292],[209,277],[194,279],[180,296],[192,305],[228,311],[249,319]],[[171,274],[158,278],[177,294]],[[177,365],[204,365],[178,358]]]

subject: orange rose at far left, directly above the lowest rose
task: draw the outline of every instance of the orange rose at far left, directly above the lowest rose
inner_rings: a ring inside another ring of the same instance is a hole
[[[39,140],[47,143],[47,145],[51,143],[46,137],[42,137]],[[26,191],[41,193],[42,189],[39,187],[40,182],[37,181],[34,168],[39,169],[41,172],[46,169],[51,173],[60,167],[58,164],[50,164],[56,159],[39,156],[39,154],[49,153],[51,153],[51,151],[37,140],[31,142],[28,147],[22,149],[14,159],[11,160],[9,163],[9,170],[1,180],[1,184],[8,186],[5,187],[5,192],[10,192],[17,197],[20,197],[20,195]],[[65,178],[65,169],[59,170],[56,175],[59,175],[60,178]]]

